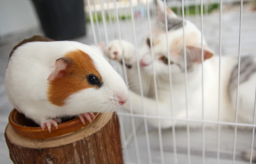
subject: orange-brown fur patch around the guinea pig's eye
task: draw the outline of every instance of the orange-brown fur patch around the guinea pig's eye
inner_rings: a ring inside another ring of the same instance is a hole
[[[102,84],[102,77],[88,54],[82,50],[76,50],[68,52],[65,57],[71,58],[72,63],[65,70],[64,77],[50,81],[48,87],[48,100],[57,106],[65,105],[68,97],[78,91],[99,88],[88,83],[87,75],[96,75]]]

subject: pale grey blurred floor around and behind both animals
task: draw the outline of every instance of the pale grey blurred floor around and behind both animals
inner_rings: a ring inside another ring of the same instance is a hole
[[[239,36],[239,11],[234,10],[232,12],[223,13],[223,24],[222,24],[222,53],[238,55],[238,36]],[[200,27],[199,17],[190,17],[190,20],[194,22],[198,27]],[[142,37],[141,31],[146,31],[148,29],[147,20],[137,20],[136,21],[136,36],[138,42]],[[248,9],[244,9],[243,16],[243,26],[242,26],[242,54],[255,54],[256,45],[256,13],[251,13]],[[96,26],[96,25],[95,25]],[[96,28],[96,27],[95,27]],[[146,30],[145,30],[146,29]],[[122,38],[128,41],[133,41],[132,38],[132,28],[130,21],[121,22],[121,34]],[[108,40],[113,38],[118,38],[116,26],[107,25]],[[97,32],[97,28],[96,28]],[[99,28],[100,37],[97,34],[98,42],[99,40],[105,40],[104,29],[102,24]],[[8,115],[12,109],[4,89],[4,71],[8,61],[9,53],[12,48],[24,38],[28,38],[34,34],[42,34],[39,29],[31,29],[27,32],[13,34],[4,37],[0,40],[0,161],[4,164],[12,163],[9,159],[8,149],[4,139],[4,129],[8,122]],[[214,50],[216,55],[219,53],[219,14],[214,13],[209,16],[204,17],[204,36],[209,44],[209,46]],[[76,41],[80,41],[85,44],[94,43],[92,37],[92,30],[90,24],[87,25],[87,36],[76,38]],[[105,40],[106,41],[106,40]],[[131,134],[131,124],[130,118],[122,117],[123,123],[126,125],[124,127],[124,133],[126,139]],[[138,127],[138,143],[140,150],[140,160],[141,163],[148,163],[148,152],[145,141],[144,125],[140,124],[141,120],[136,119],[136,125]],[[152,128],[151,128],[152,129]],[[233,138],[234,130],[223,128],[221,129],[221,147],[220,147],[220,163],[228,164],[232,163],[233,157]],[[173,163],[173,144],[172,144],[172,130],[162,131],[163,143],[164,143],[164,160],[165,163]],[[159,138],[158,130],[152,129],[149,131],[150,145],[152,161],[154,164],[161,163],[160,149],[159,149]],[[191,144],[191,163],[197,164],[202,162],[202,131],[190,130],[190,144]],[[187,163],[187,132],[184,129],[176,129],[176,139],[177,139],[177,153],[178,162],[183,164]],[[251,131],[240,131],[237,133],[237,143],[236,143],[236,163],[245,164],[241,158],[241,152],[250,148],[252,139]],[[217,130],[207,129],[205,130],[205,155],[206,163],[216,163],[216,150],[217,150]],[[131,163],[137,163],[136,153],[134,151],[134,140],[131,138],[129,144],[127,145],[127,150],[129,152],[124,154],[125,160]]]

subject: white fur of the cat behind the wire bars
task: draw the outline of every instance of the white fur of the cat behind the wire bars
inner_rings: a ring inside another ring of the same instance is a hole
[[[160,1],[161,2],[161,1]],[[159,1],[158,1],[159,3]],[[162,6],[163,7],[163,6]],[[161,5],[160,5],[161,8]],[[163,9],[162,9],[163,10]],[[158,13],[159,14],[159,13]],[[161,14],[161,12],[160,12]],[[158,17],[159,19],[159,17]],[[201,45],[201,32],[196,26],[186,20],[185,35],[195,33],[199,37],[194,41],[194,44]],[[169,45],[174,42],[174,38],[183,35],[182,28],[178,30],[170,30],[168,32]],[[141,46],[138,50],[139,59],[143,59],[151,63],[151,49],[146,43],[145,35]],[[164,117],[174,117],[178,119],[186,119],[186,100],[185,100],[185,73],[180,68],[173,64],[171,66],[172,74],[172,93],[173,104],[172,110],[174,116],[171,116],[171,97],[169,85],[169,71],[168,65],[164,64],[159,57],[163,54],[167,55],[166,34],[165,30],[159,29],[158,24],[154,24],[152,28],[153,40],[159,40],[159,43],[154,45],[154,62],[157,75],[157,90],[159,99],[159,115]],[[189,38],[186,38],[189,39]],[[203,44],[206,42],[203,40]],[[130,61],[136,61],[134,47],[131,43],[127,44],[122,41],[123,51],[119,46],[119,41],[112,41],[105,48],[105,54],[112,58],[112,53],[117,51],[119,58],[124,55],[127,63],[132,65],[132,69],[127,69],[127,76],[129,85],[132,86],[130,97],[132,102],[133,112],[137,114],[144,114],[141,105],[140,87],[138,81],[137,64]],[[111,51],[109,51],[109,48]],[[170,47],[172,48],[172,47]],[[126,51],[129,49],[129,51]],[[177,58],[171,55],[171,60],[176,61]],[[150,59],[149,59],[150,58]],[[220,121],[234,122],[235,108],[236,108],[236,92],[232,92],[232,100],[228,96],[228,82],[231,70],[237,63],[237,57],[222,56],[221,58],[221,86],[220,86]],[[140,66],[142,76],[142,86],[144,93],[144,104],[146,108],[146,115],[157,116],[155,89],[153,81],[153,65]],[[201,63],[193,63],[193,71],[188,71],[188,119],[202,120],[202,68]],[[252,123],[253,120],[253,106],[255,100],[255,81],[256,74],[253,74],[249,80],[240,85],[239,97],[242,100],[243,107],[238,108],[238,122]],[[219,95],[219,58],[214,56],[204,61],[204,119],[208,121],[218,121],[218,95]],[[130,111],[129,103],[124,105],[124,109]],[[148,123],[158,127],[158,119],[148,119]],[[177,126],[185,126],[186,122],[176,122]],[[201,123],[190,123],[191,126],[201,126]],[[172,126],[169,120],[161,120],[161,127],[168,128]]]

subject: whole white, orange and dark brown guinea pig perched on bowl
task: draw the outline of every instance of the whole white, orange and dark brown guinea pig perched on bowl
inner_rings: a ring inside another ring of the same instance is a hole
[[[43,36],[25,39],[13,48],[5,71],[9,101],[44,130],[58,128],[60,118],[120,109],[128,89],[105,60],[104,43],[53,41]]]

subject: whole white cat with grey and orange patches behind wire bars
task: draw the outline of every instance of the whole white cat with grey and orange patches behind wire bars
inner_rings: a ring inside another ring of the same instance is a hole
[[[166,32],[164,19],[164,4],[158,0],[158,16],[152,25],[152,43],[154,63],[157,76],[159,116],[186,119],[185,98],[185,64],[183,49],[182,18],[167,8],[168,42],[170,61],[168,61]],[[185,41],[188,72],[188,119],[202,120],[202,60],[201,32],[188,20],[185,20]],[[133,112],[143,115],[140,95],[139,78],[135,48],[132,43],[119,40],[112,41],[105,48],[105,54],[121,62],[125,58],[129,85],[132,86],[130,101]],[[204,47],[204,120],[218,121],[219,96],[219,57],[213,56],[212,50],[203,40]],[[153,80],[153,63],[149,33],[145,35],[138,49],[144,104],[146,115],[157,116],[156,96]],[[169,66],[172,75],[172,110],[169,84]],[[256,89],[256,60],[252,56],[242,56],[240,65],[240,85],[238,103],[238,122],[253,123],[254,100]],[[220,81],[220,121],[235,122],[236,86],[237,86],[237,56],[222,56]],[[129,102],[124,109],[130,111]],[[157,127],[158,119],[148,119],[148,123]],[[176,126],[185,126],[185,121],[175,121]],[[191,126],[202,124],[191,122]],[[216,124],[211,124],[216,125]],[[172,121],[161,120],[162,128],[172,126]]]

